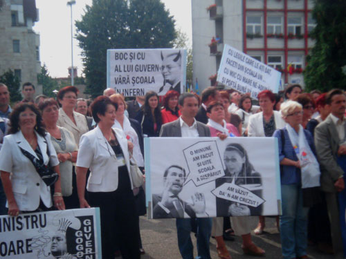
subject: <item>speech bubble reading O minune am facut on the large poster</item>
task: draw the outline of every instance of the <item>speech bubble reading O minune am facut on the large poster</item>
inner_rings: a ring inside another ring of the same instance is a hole
[[[225,175],[216,141],[197,142],[185,148],[183,153],[189,169],[185,184],[192,180],[200,186]]]

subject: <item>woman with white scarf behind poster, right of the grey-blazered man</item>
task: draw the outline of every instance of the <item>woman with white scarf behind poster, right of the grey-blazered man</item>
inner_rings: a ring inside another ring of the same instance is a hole
[[[225,134],[229,137],[239,137],[239,132],[237,128],[232,124],[228,124],[225,121],[225,112],[224,106],[220,102],[212,102],[208,105],[207,108],[207,116],[208,126],[210,129],[210,135],[212,137],[217,137],[220,134]],[[225,163],[226,164],[226,163]],[[222,178],[222,180],[218,179],[217,184],[221,185],[226,178]],[[218,186],[218,185],[217,185]],[[230,215],[228,211],[219,211],[221,207],[224,209],[230,208],[230,204],[228,204],[227,200],[217,199],[217,213],[224,213],[221,215]],[[226,203],[226,204],[225,204]],[[218,207],[220,205],[221,207]],[[232,212],[233,213],[233,212]],[[233,214],[236,214],[235,212]],[[244,217],[232,217],[232,225],[235,229],[235,232],[242,236],[243,239],[243,250],[244,253],[262,256],[264,255],[264,251],[253,244],[251,240],[250,228],[244,228],[247,225],[247,218]],[[226,248],[224,238],[223,238],[223,229],[224,229],[224,218],[213,218],[212,219],[212,236],[215,236],[215,240],[217,240],[217,253],[219,258],[221,259],[230,259],[230,254]]]

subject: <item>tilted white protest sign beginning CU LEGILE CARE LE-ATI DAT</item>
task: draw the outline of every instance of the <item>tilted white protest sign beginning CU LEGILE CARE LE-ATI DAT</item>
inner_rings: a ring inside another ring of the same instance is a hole
[[[279,71],[225,44],[217,81],[226,88],[250,93],[252,98],[257,99],[262,90],[277,93],[280,78]]]

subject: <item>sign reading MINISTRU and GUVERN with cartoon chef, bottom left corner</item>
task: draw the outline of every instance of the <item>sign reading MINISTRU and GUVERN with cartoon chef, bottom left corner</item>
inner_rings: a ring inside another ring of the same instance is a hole
[[[0,258],[102,258],[100,209],[0,216]]]

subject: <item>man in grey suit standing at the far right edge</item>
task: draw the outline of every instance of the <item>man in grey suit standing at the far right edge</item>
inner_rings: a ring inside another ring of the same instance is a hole
[[[345,182],[344,171],[337,160],[340,155],[346,155],[346,97],[343,90],[330,90],[326,103],[331,108],[331,114],[316,127],[315,145],[321,169],[321,189],[325,192],[331,222],[333,249],[334,253],[342,253],[338,192],[343,191]]]

